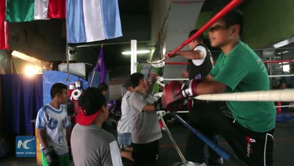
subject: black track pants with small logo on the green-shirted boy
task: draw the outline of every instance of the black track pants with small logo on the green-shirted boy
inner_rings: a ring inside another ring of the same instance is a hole
[[[273,165],[273,132],[259,133],[242,127],[236,120],[224,116],[214,104],[206,109],[195,109],[192,118],[193,127],[206,136],[216,133],[222,135],[238,156],[247,165]],[[195,137],[195,144],[204,146],[204,142]],[[199,157],[201,161],[202,156]]]

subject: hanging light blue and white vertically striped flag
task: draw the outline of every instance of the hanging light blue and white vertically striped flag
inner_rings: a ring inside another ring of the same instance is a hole
[[[121,37],[117,0],[66,0],[68,43]]]

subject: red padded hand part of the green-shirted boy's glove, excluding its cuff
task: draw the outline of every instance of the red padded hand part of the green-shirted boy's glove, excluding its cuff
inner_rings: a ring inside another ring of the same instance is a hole
[[[162,105],[168,111],[178,111],[184,107],[184,96],[182,95],[182,83],[178,81],[166,84],[162,95]]]

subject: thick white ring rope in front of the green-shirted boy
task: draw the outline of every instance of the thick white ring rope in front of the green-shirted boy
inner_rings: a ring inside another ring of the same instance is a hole
[[[212,101],[293,102],[294,101],[294,89],[206,94],[206,95],[198,95],[195,97],[195,99],[197,99],[197,100],[212,100]]]

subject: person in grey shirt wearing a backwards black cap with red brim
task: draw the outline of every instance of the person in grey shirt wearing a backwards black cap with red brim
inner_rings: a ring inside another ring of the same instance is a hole
[[[104,95],[89,87],[79,97],[78,104],[80,112],[70,139],[75,166],[122,166],[115,137],[101,129],[108,118]]]

